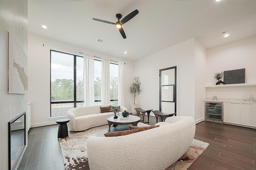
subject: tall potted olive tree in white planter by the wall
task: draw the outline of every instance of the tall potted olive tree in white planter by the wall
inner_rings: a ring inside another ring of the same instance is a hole
[[[129,88],[130,93],[132,94],[133,97],[133,104],[132,104],[132,114],[136,115],[137,112],[134,108],[137,108],[137,104],[135,104],[135,98],[136,96],[138,96],[141,92],[141,88],[140,88],[140,78],[139,77],[135,77],[134,78],[134,82],[132,82],[132,85]]]

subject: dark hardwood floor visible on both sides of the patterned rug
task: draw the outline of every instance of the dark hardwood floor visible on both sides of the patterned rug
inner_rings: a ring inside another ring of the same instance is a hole
[[[31,128],[18,170],[64,170],[57,136],[58,125]],[[256,170],[256,129],[203,121],[194,138],[210,145],[188,170]]]

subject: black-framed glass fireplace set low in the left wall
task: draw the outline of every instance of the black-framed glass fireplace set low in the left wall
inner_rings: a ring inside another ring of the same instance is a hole
[[[8,122],[9,170],[14,170],[26,145],[26,112]]]

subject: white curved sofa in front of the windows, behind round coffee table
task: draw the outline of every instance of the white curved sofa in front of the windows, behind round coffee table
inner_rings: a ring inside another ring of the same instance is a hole
[[[70,131],[84,131],[92,127],[108,124],[108,117],[112,112],[100,113],[100,107],[110,105],[95,105],[75,107],[67,111],[66,118],[70,119],[68,122],[68,129]],[[127,110],[126,107],[120,106],[120,113]]]

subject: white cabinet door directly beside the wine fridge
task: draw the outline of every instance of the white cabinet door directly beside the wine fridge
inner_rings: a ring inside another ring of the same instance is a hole
[[[241,109],[239,102],[223,102],[223,122],[241,124]]]

